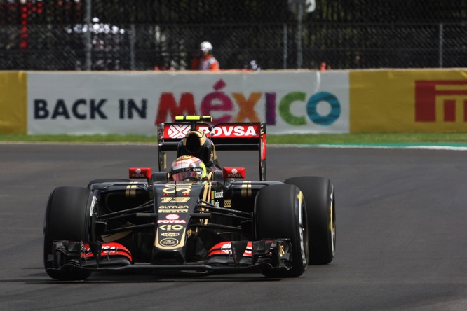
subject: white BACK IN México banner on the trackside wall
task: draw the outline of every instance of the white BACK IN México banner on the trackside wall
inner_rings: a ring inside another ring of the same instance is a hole
[[[156,134],[179,115],[348,133],[348,71],[29,72],[29,134]]]

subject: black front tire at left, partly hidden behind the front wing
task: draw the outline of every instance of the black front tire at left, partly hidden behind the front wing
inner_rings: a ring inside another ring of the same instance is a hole
[[[58,187],[50,194],[43,227],[44,268],[53,268],[53,242],[60,240],[89,241],[90,214],[96,200],[87,188]],[[81,280],[90,272],[46,270],[53,279],[61,281]]]

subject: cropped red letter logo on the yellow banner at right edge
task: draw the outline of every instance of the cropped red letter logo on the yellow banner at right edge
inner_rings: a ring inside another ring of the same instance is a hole
[[[415,81],[415,122],[467,122],[466,80]]]

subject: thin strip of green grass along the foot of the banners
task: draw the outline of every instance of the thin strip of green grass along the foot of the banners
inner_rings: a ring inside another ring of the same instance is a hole
[[[0,134],[0,141],[157,143],[140,135],[19,135]],[[268,144],[467,144],[467,133],[268,134]]]

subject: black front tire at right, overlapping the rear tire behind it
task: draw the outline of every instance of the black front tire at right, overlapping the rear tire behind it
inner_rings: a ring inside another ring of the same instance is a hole
[[[287,238],[292,244],[292,267],[287,271],[264,270],[266,277],[299,277],[309,259],[306,207],[302,192],[293,185],[262,188],[255,200],[255,237]]]

